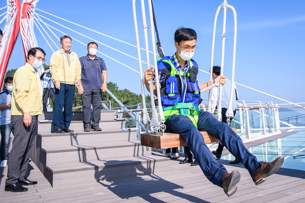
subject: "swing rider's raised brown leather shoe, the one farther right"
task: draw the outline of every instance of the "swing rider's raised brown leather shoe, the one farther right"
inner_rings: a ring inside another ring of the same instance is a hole
[[[284,157],[280,156],[273,160],[272,162],[264,162],[260,161],[259,163],[262,165],[260,168],[253,173],[252,180],[255,185],[259,185],[267,179],[268,176],[276,173],[280,167],[283,165]]]

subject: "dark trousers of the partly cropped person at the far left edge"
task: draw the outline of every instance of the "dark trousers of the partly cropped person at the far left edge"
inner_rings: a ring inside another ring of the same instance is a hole
[[[0,125],[1,144],[0,144],[0,160],[8,159],[9,141],[11,137],[13,125],[12,123]]]

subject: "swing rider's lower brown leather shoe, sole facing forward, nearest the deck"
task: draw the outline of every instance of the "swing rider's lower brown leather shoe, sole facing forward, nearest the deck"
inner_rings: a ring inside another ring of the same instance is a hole
[[[236,185],[240,180],[240,173],[236,170],[232,171],[231,174],[224,173],[221,180],[223,182],[224,192],[230,197],[237,191]]]

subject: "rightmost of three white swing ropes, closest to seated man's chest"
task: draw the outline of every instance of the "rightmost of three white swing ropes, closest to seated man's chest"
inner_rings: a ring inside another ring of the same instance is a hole
[[[151,6],[151,0],[148,0],[148,8],[149,8],[149,18],[150,18],[150,25],[154,24],[153,20],[153,9]],[[158,98],[158,113],[159,113],[159,121],[161,122],[161,125],[164,124],[165,118],[163,114],[163,108],[162,108],[162,103],[161,103],[161,94],[160,94],[160,81],[159,81],[159,72],[158,72],[158,67],[157,67],[157,52],[156,52],[156,39],[155,39],[155,31],[154,31],[154,26],[151,26],[152,28],[150,29],[151,31],[151,44],[153,44],[153,53],[154,54],[154,66],[155,66],[155,85],[156,85],[156,90],[157,90],[157,98]]]

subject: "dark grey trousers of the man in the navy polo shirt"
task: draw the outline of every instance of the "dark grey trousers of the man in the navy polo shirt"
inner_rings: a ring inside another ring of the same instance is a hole
[[[84,125],[91,124],[91,104],[93,108],[92,125],[99,126],[101,120],[101,102],[102,90],[101,89],[84,89],[81,94],[83,104],[83,123]]]

